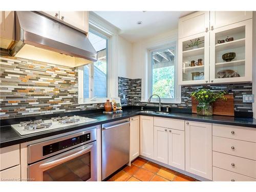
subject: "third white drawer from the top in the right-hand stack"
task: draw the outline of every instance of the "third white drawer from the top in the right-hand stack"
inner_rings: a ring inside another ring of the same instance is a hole
[[[218,152],[212,152],[212,165],[256,178],[256,161]]]

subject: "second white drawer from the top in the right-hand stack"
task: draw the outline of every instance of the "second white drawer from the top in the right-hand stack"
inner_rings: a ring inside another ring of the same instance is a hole
[[[212,137],[212,151],[256,160],[256,143]]]

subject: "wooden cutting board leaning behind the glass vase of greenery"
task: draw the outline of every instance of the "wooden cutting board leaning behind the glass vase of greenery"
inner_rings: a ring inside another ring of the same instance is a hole
[[[226,101],[217,100],[214,102],[214,109],[212,113],[214,115],[227,115],[234,116],[234,97],[233,95],[225,95]],[[191,97],[192,113],[197,113],[198,101],[194,97]]]

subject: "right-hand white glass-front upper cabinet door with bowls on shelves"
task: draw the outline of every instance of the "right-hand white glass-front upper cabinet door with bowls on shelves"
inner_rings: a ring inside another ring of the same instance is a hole
[[[252,80],[252,19],[210,31],[209,80]]]

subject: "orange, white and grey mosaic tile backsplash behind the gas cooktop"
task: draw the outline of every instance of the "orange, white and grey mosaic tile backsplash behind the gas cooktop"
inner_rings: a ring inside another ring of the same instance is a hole
[[[0,118],[103,108],[78,104],[77,69],[15,57],[0,57]]]

